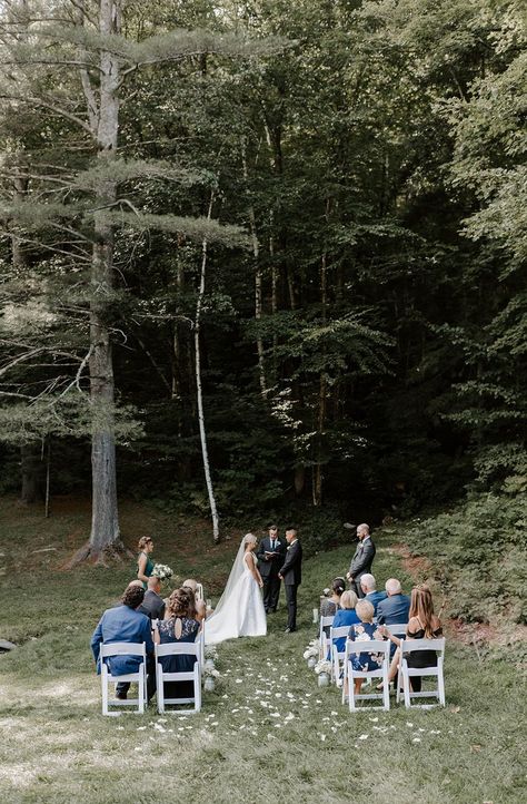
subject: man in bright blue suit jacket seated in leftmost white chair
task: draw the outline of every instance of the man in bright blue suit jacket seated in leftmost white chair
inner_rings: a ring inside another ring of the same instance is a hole
[[[145,590],[130,584],[121,598],[121,605],[107,609],[91,637],[91,650],[97,663],[97,673],[100,674],[100,646],[109,643],[145,643],[147,647],[147,694],[148,699],[156,692],[156,674],[153,673],[153,643],[150,633],[149,618],[138,611],[142,604]],[[140,656],[110,656],[106,659],[112,676],[126,676],[137,673],[141,664]],[[130,684],[120,682],[117,685],[116,696],[126,700]]]

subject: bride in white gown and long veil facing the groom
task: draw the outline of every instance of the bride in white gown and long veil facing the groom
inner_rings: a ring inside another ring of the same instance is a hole
[[[264,637],[267,619],[260,589],[255,548],[256,536],[247,533],[240,543],[229,580],[213,615],[205,624],[205,641],[216,645],[236,637]]]

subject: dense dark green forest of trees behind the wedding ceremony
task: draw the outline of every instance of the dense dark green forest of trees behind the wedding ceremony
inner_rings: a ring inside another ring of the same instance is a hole
[[[520,0],[2,2],[1,493],[92,484],[95,559],[118,496],[311,550],[426,512],[453,614],[525,622],[526,39]]]

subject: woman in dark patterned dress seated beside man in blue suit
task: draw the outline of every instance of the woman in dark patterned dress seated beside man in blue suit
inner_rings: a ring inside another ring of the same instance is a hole
[[[195,643],[200,625],[196,619],[196,604],[192,590],[188,587],[176,589],[168,599],[167,619],[158,622],[153,631],[156,645],[169,643]],[[165,673],[189,673],[197,661],[196,656],[161,656],[159,661]],[[166,698],[193,697],[192,682],[167,682]]]

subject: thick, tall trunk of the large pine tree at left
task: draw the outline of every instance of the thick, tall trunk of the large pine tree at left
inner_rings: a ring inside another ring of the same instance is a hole
[[[120,32],[121,2],[101,0],[100,32]],[[97,120],[98,158],[107,164],[115,158],[119,130],[119,62],[112,53],[100,57],[99,115]],[[98,560],[109,547],[120,546],[117,508],[115,384],[111,339],[107,321],[113,288],[113,232],[106,209],[116,202],[117,184],[101,179],[97,188],[95,245],[91,265],[90,303],[90,395],[92,404],[92,516],[91,558]]]

